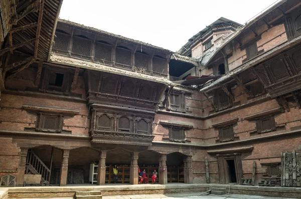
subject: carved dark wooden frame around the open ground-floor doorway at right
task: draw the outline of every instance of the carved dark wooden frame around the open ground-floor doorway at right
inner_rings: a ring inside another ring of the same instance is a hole
[[[228,163],[227,160],[234,160],[236,183],[241,183],[242,173],[242,163],[241,163],[241,153],[231,153],[231,154],[217,154],[218,158],[218,175],[220,183],[230,183],[229,173],[228,173]]]

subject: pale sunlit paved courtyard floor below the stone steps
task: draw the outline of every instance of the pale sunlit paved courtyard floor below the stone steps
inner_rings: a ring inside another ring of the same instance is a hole
[[[115,196],[102,196],[103,199],[284,199],[284,197],[267,197],[267,196],[257,196],[257,195],[240,195],[240,194],[229,194],[229,195],[200,195],[201,193],[175,193],[175,194],[137,194],[137,195],[115,195]],[[285,197],[285,199],[288,199]]]

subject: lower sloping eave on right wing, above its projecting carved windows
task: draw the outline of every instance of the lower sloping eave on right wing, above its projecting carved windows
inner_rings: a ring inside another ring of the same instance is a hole
[[[241,72],[250,69],[251,67],[261,63],[262,61],[271,58],[275,55],[277,55],[280,52],[283,52],[287,49],[289,49],[290,47],[296,46],[301,42],[301,36],[296,37],[284,44],[281,44],[278,47],[275,47],[253,59],[251,59],[250,61],[246,62],[245,64],[239,66],[238,68],[234,69],[233,71],[229,72],[228,74],[224,75],[223,77],[217,79],[215,82],[209,84],[208,86],[202,88],[200,91],[201,92],[207,92],[208,90],[212,90],[215,87],[219,87],[219,83],[223,83],[225,81],[229,81],[231,79],[234,78],[234,76],[240,74]]]

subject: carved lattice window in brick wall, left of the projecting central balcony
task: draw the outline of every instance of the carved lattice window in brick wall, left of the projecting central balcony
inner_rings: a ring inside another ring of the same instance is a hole
[[[62,115],[39,113],[36,122],[36,131],[61,132]]]

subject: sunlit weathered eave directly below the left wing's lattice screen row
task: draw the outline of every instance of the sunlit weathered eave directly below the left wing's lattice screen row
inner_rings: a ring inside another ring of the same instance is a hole
[[[113,73],[113,74],[132,77],[132,78],[143,79],[146,81],[157,82],[157,83],[165,84],[168,86],[175,85],[172,81],[170,81],[164,77],[157,77],[157,76],[151,76],[151,75],[147,75],[147,74],[137,73],[134,71],[128,71],[128,70],[116,68],[113,66],[107,66],[104,64],[94,63],[94,62],[90,62],[90,61],[86,61],[86,60],[65,57],[62,55],[52,54],[49,62],[54,63],[54,64],[59,64],[59,65],[74,66],[74,67],[78,67],[78,68],[102,71],[102,72]]]

